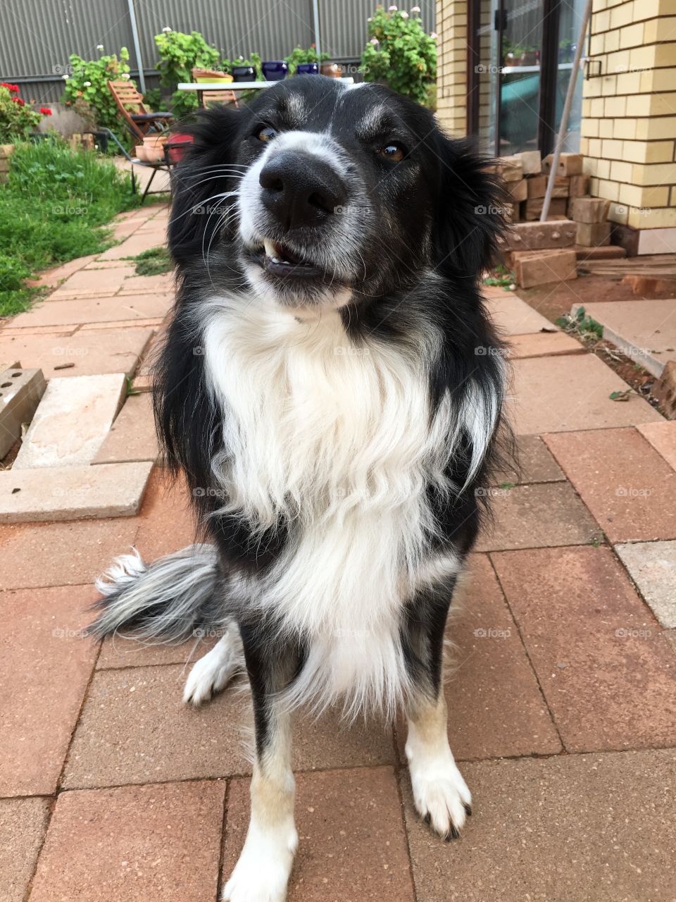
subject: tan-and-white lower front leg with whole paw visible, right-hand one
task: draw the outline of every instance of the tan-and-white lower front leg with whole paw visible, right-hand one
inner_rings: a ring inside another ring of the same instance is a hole
[[[454,839],[471,814],[471,796],[448,743],[443,689],[436,700],[421,695],[412,705],[406,753],[418,814],[435,833]]]

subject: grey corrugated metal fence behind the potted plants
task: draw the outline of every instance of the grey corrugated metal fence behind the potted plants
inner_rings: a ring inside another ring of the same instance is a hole
[[[333,60],[359,59],[366,20],[377,3],[319,0],[322,49]],[[425,29],[432,31],[434,0],[417,0],[417,5]],[[165,25],[202,32],[228,59],[257,51],[263,60],[279,60],[297,44],[307,47],[315,40],[312,0],[135,0],[134,8],[149,87],[157,84],[151,76],[157,60],[153,38]],[[4,0],[0,5],[0,80],[21,79],[24,97],[58,100],[69,54],[96,59],[97,44],[109,53],[127,47],[136,69],[127,0]]]

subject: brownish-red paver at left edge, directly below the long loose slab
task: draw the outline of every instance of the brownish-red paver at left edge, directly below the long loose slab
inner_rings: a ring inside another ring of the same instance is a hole
[[[127,553],[137,517],[0,528],[0,585],[6,589],[91,583]]]

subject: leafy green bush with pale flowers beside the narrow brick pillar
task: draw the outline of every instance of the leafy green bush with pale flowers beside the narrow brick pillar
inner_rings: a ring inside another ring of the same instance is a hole
[[[366,81],[384,81],[419,104],[428,102],[428,86],[436,78],[436,35],[427,34],[414,15],[382,6],[369,20],[370,41],[361,54]]]

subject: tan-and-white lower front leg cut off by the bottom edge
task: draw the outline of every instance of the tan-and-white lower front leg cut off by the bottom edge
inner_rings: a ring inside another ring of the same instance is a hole
[[[228,902],[283,902],[287,895],[298,844],[288,713],[270,713],[267,733],[270,739],[253,767],[249,831],[224,888]]]

